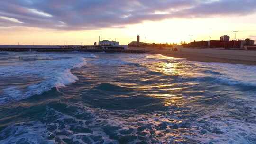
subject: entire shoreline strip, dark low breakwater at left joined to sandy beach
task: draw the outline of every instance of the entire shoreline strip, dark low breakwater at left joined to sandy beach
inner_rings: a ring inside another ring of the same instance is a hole
[[[148,54],[162,54],[175,58],[185,58],[188,61],[198,62],[216,62],[216,63],[232,63],[232,64],[246,64],[256,65],[256,51],[239,51],[239,50],[213,50],[213,49],[189,49],[176,47],[178,51],[173,51],[171,47],[156,48],[156,47],[128,47],[125,50],[97,50],[97,49],[58,49],[58,48],[0,48],[0,51],[37,51],[37,52],[106,52],[106,53],[148,53]],[[207,53],[205,52],[207,51]],[[225,54],[226,53],[226,54]],[[228,54],[227,54],[228,53]],[[223,58],[224,57],[224,58]],[[239,60],[240,59],[240,60]],[[242,59],[242,60],[241,60]],[[246,60],[244,60],[246,59]]]

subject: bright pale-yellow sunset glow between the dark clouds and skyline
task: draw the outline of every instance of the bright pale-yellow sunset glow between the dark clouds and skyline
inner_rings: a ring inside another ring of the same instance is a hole
[[[256,35],[256,15],[230,18],[194,18],[194,19],[167,19],[162,21],[144,21],[140,24],[130,24],[124,28],[103,28],[98,30],[54,30],[35,27],[1,27],[0,44],[14,45],[18,42],[23,45],[93,45],[99,36],[102,39],[117,40],[127,45],[136,41],[140,35],[141,41],[147,43],[178,43],[193,40],[219,39],[221,35],[229,35],[233,39],[233,30],[239,30],[238,39],[245,39]],[[16,23],[17,19],[3,18]],[[241,22],[238,22],[241,21]],[[244,21],[249,21],[245,23]],[[234,25],[233,23],[236,23]],[[60,21],[56,26],[64,27],[67,24]]]

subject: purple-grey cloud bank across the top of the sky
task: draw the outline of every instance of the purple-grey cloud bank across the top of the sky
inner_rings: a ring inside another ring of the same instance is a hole
[[[0,6],[0,27],[65,30],[124,27],[144,20],[256,12],[256,0],[1,0]]]

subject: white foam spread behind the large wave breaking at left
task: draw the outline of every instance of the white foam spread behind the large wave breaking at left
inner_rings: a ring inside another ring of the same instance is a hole
[[[38,80],[29,83],[26,87],[20,85],[5,87],[0,103],[25,99],[36,94],[42,94],[54,87],[59,88],[74,83],[78,78],[72,74],[71,69],[85,65],[86,59],[84,57],[94,57],[94,55],[88,56],[88,54],[78,57],[60,57],[56,54],[37,54],[37,57],[35,55],[24,56],[26,58],[33,57],[35,59],[33,61],[18,61],[0,67],[0,78],[29,77],[29,79]]]

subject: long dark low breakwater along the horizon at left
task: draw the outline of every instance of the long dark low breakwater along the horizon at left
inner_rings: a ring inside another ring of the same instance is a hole
[[[82,49],[82,48],[0,48],[0,51],[11,51],[11,52],[106,52],[106,53],[146,53],[146,50],[127,50],[127,49]]]

